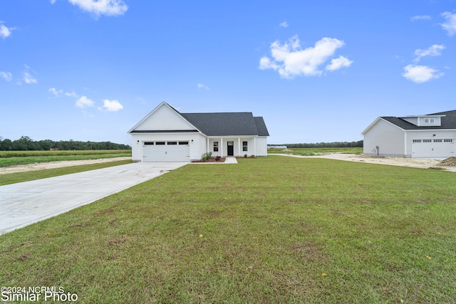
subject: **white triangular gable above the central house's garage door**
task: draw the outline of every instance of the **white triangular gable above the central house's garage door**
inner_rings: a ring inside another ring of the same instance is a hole
[[[135,125],[130,133],[135,132],[197,132],[195,126],[185,120],[174,108],[161,103]]]

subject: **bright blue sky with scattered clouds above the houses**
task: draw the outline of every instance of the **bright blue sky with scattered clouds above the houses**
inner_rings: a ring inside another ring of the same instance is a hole
[[[456,1],[0,2],[0,136],[111,141],[166,101],[269,143],[456,109]]]

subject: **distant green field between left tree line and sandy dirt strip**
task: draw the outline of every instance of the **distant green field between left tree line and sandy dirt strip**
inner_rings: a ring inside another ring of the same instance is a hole
[[[38,162],[130,156],[131,150],[0,151],[0,167]]]

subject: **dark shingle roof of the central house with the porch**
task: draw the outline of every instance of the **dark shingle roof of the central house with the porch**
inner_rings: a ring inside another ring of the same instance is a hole
[[[252,112],[180,113],[180,115],[207,136],[269,136],[263,117],[254,117]]]

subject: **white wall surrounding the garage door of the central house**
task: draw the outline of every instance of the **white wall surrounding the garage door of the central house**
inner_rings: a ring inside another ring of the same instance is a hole
[[[202,146],[204,146],[205,150],[205,137],[198,133],[133,133],[131,145],[133,162],[142,162],[142,146],[144,142],[167,140],[188,141],[190,145],[190,160],[201,159],[201,154],[205,152],[201,152]]]

